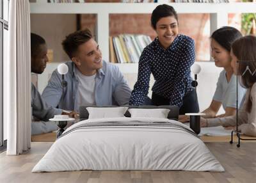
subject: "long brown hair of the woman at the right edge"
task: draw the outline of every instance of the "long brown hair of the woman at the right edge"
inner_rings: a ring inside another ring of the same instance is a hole
[[[237,60],[244,63],[238,63],[237,75],[241,76],[242,84],[245,88],[252,88],[256,83],[256,74],[252,75],[250,72],[245,72],[246,67],[249,67],[252,73],[256,70],[256,37],[249,35],[239,38],[232,44],[232,52]],[[248,62],[253,61],[253,62]],[[249,97],[246,111],[252,111],[252,99]]]

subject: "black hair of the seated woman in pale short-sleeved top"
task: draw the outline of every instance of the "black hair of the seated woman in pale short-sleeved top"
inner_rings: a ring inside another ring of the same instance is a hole
[[[243,35],[236,28],[225,26],[214,31],[211,38],[230,52],[232,43],[242,36]]]

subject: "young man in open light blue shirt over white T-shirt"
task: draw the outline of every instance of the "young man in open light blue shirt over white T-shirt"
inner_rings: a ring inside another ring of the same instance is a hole
[[[79,112],[80,106],[129,104],[131,89],[124,75],[117,65],[102,59],[100,47],[89,29],[71,33],[62,45],[71,60],[65,63],[67,86],[63,88],[61,75],[54,70],[42,93],[49,106]]]

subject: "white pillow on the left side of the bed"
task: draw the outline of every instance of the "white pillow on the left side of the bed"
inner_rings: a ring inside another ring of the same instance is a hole
[[[89,118],[120,118],[125,117],[124,114],[128,107],[86,107]]]

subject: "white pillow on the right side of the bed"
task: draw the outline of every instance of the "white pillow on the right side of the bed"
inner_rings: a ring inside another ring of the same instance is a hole
[[[131,118],[149,117],[149,118],[167,118],[170,109],[128,109]]]

